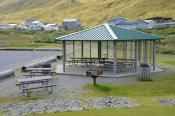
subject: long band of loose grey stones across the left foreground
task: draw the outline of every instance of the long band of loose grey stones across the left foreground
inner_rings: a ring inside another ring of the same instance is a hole
[[[24,115],[43,112],[81,111],[99,108],[131,108],[139,104],[124,97],[103,97],[89,99],[58,99],[38,102],[0,104],[5,115]]]

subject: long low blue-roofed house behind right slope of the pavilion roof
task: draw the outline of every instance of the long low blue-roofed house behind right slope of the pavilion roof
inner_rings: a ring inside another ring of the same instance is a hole
[[[147,29],[148,23],[145,21],[124,21],[116,24],[116,26],[130,29],[130,30],[138,30],[138,29]]]

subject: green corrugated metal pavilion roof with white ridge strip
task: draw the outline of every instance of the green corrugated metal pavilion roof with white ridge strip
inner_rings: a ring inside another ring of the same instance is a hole
[[[103,24],[56,38],[60,41],[136,41],[159,40],[161,36]]]

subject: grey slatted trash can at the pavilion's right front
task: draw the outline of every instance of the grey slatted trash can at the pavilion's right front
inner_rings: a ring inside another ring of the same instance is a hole
[[[142,63],[140,64],[140,74],[139,79],[141,81],[148,81],[150,80],[150,66],[149,64]]]

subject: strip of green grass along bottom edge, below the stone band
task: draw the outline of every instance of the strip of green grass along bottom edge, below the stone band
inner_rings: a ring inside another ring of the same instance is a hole
[[[27,116],[174,116],[175,107],[152,106],[143,108],[102,109],[81,112],[30,114]]]

